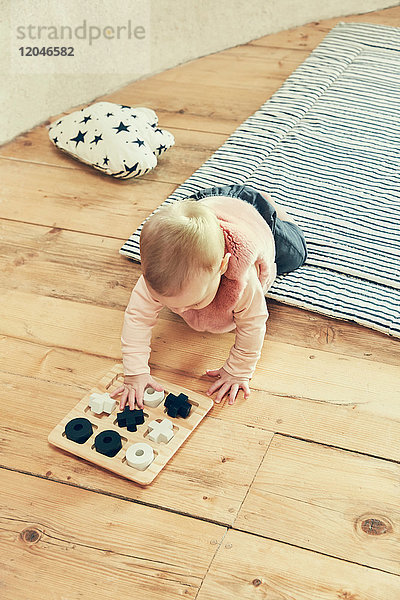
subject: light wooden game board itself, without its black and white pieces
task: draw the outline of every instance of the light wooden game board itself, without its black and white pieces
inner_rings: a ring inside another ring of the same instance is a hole
[[[172,458],[175,452],[182,446],[183,442],[197,427],[200,421],[205,417],[210,408],[213,405],[213,400],[202,394],[191,392],[185,388],[174,385],[167,381],[157,379],[157,381],[164,387],[165,397],[167,394],[172,392],[175,395],[180,393],[186,394],[189,398],[189,402],[192,404],[190,415],[183,419],[181,417],[172,418],[166,414],[164,401],[156,408],[149,406],[143,407],[143,413],[145,421],[142,425],[138,425],[137,431],[129,432],[126,428],[118,426],[117,412],[120,412],[119,408],[119,396],[117,396],[117,405],[113,412],[108,415],[102,413],[96,415],[90,410],[89,398],[94,392],[104,394],[105,392],[111,393],[117,387],[123,383],[123,367],[122,364],[115,365],[85,396],[78,402],[78,404],[58,423],[58,425],[51,431],[48,440],[54,446],[67,450],[72,454],[80,456],[96,465],[109,469],[118,475],[122,475],[131,481],[135,481],[141,485],[148,485],[151,483],[158,473],[165,467],[167,462]],[[88,419],[93,426],[93,434],[84,444],[78,444],[69,440],[65,435],[65,426],[76,417],[83,417]],[[148,438],[148,427],[147,423],[152,420],[161,421],[164,418],[168,418],[173,423],[174,437],[167,443],[157,444]],[[114,457],[108,457],[104,454],[100,454],[94,448],[94,438],[101,431],[112,429],[117,431],[122,438],[122,448]],[[154,451],[153,462],[144,470],[139,471],[134,467],[130,467],[125,460],[125,453],[127,448],[131,444],[136,442],[146,442],[149,444]]]

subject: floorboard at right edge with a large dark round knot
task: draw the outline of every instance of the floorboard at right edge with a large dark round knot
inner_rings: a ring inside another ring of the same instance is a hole
[[[398,464],[277,435],[234,527],[399,575],[399,479]]]

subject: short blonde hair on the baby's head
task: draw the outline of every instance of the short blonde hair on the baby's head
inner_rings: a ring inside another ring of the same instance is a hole
[[[196,200],[180,200],[160,208],[140,234],[143,275],[163,296],[180,293],[201,269],[212,272],[222,261],[224,250],[217,217]]]

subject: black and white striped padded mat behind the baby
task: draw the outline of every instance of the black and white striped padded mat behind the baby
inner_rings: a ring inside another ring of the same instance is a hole
[[[306,264],[268,297],[400,336],[400,29],[340,23],[165,202],[243,183],[292,214]],[[140,260],[141,227],[120,252]]]

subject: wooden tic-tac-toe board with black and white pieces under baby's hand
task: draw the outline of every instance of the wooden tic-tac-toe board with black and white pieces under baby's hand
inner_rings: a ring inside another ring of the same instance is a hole
[[[207,396],[191,392],[166,381],[159,379],[157,381],[164,387],[160,404],[156,407],[146,405],[145,397],[145,405],[143,407],[144,422],[136,425],[136,431],[128,431],[126,427],[120,427],[117,422],[117,414],[122,413],[119,408],[119,396],[117,396],[116,406],[110,414],[107,412],[96,413],[90,408],[90,404],[93,406],[93,398],[98,399],[101,395],[101,399],[104,399],[107,397],[107,394],[110,394],[123,383],[122,365],[115,365],[53,429],[48,437],[49,442],[54,446],[67,450],[114,473],[118,473],[118,475],[122,475],[136,483],[148,485],[154,480],[161,469],[165,467],[167,462],[182,446],[186,438],[189,437],[213,405],[213,400]],[[147,399],[151,403],[152,397],[150,394],[156,394],[156,392],[153,392],[151,388],[148,390]],[[189,415],[186,418],[183,418],[179,414],[177,416],[169,416],[167,408],[164,405],[165,399],[169,395],[181,397],[180,395],[182,394],[187,396],[188,402],[191,405],[191,407],[188,407],[186,404],[187,409],[190,408]],[[73,421],[74,419],[90,421],[93,432],[90,434],[90,424],[81,420]],[[71,424],[70,421],[73,421],[73,423]],[[85,431],[89,437],[84,442],[82,442],[82,439],[85,436],[79,438],[79,442],[74,441],[76,433],[79,435],[81,432],[84,432],[82,423],[89,428],[88,431]],[[77,429],[77,432],[73,431],[74,440],[69,439],[66,435],[67,425],[69,427],[68,435],[71,434],[71,425]],[[100,439],[102,442],[110,443],[111,439],[113,441],[118,439],[116,434],[119,434],[121,437],[122,447],[117,451],[115,456],[107,456],[96,450],[96,444],[99,447]],[[99,437],[97,438],[97,436]],[[95,444],[96,438],[97,441]],[[135,447],[132,447],[133,445]],[[145,462],[143,463],[146,457],[148,457],[148,460],[153,457],[148,466],[145,465]],[[130,464],[128,464],[129,460]],[[141,466],[132,466],[132,462],[136,465],[141,460]],[[144,467],[143,464],[145,465]]]

